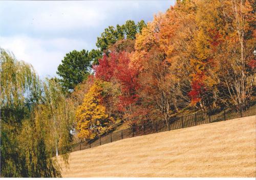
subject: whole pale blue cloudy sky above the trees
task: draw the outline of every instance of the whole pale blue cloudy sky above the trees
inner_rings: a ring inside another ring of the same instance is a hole
[[[152,21],[172,1],[1,1],[0,47],[33,65],[41,78],[56,76],[72,50],[96,48],[109,25]]]

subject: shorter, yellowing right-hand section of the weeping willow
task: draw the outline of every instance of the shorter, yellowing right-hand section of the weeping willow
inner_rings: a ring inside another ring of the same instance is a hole
[[[50,147],[55,147],[56,156],[70,151],[71,134],[75,108],[67,99],[59,84],[54,79],[46,79],[44,87],[44,104],[37,107],[36,120],[47,126]],[[44,124],[47,122],[48,124]],[[60,149],[59,149],[60,148]],[[66,156],[64,156],[67,158]]]

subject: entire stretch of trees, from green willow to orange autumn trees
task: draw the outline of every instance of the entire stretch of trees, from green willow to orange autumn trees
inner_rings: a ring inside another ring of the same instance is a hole
[[[255,100],[255,1],[177,1],[152,22],[110,26],[73,50],[60,79],[1,49],[1,176],[61,176],[54,153],[115,124]],[[53,153],[53,149],[55,149]],[[68,159],[68,153],[63,156]]]

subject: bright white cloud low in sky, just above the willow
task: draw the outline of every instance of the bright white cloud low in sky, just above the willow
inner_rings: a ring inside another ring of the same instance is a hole
[[[56,75],[61,60],[71,50],[87,48],[82,40],[56,38],[36,39],[27,36],[0,37],[1,47],[14,53],[17,60],[26,61],[35,68],[41,78]]]

